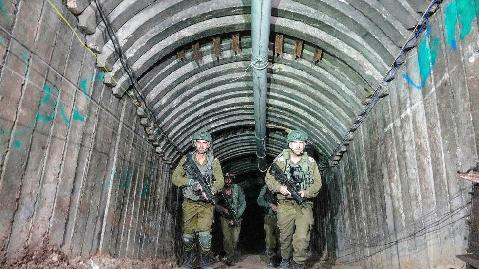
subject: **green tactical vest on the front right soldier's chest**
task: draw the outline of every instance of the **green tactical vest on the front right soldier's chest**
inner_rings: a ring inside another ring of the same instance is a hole
[[[283,170],[286,173],[286,176],[288,179],[291,179],[291,174],[289,173],[289,169],[291,165],[299,165],[301,166],[301,171],[295,172],[295,176],[298,177],[300,183],[294,182],[299,186],[298,191],[306,190],[307,187],[311,186],[313,184],[314,176],[313,176],[313,166],[312,163],[314,162],[314,159],[309,157],[307,153],[303,153],[303,159],[299,163],[292,163],[291,160],[289,159],[291,154],[290,149],[285,149],[283,150],[275,159],[273,162],[285,162],[285,170]]]

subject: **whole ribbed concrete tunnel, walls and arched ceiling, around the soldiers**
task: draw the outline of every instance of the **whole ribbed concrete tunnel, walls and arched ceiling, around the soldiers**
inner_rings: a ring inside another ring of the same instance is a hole
[[[176,267],[171,175],[200,130],[246,194],[241,255],[265,260],[251,4],[0,0],[1,268]],[[478,15],[479,0],[272,1],[265,159],[307,132],[323,180],[307,268],[478,267]]]

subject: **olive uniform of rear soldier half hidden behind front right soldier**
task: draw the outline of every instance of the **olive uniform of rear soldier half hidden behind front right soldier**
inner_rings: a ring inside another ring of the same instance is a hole
[[[277,213],[274,212],[269,205],[271,201],[265,195],[268,194],[268,186],[264,185],[261,188],[261,191],[258,196],[258,205],[265,209],[265,245],[266,245],[266,255],[268,258],[276,258],[276,256],[280,255],[280,241],[279,241],[279,228],[277,225]],[[272,195],[272,194],[271,194]]]

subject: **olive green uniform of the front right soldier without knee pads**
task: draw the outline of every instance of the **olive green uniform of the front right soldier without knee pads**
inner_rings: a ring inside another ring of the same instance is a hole
[[[287,171],[286,175],[290,179],[289,168],[292,164],[289,156],[290,149],[285,149],[275,159],[275,163],[283,170]],[[266,173],[266,185],[273,193],[278,193],[278,227],[280,230],[281,256],[283,259],[293,257],[294,262],[304,264],[307,260],[307,249],[310,240],[310,231],[314,224],[313,203],[308,199],[318,195],[321,189],[321,175],[318,165],[313,158],[304,153],[302,159],[296,163],[301,166],[299,177],[303,179],[300,184],[301,190],[306,190],[304,198],[306,208],[301,207],[291,198],[285,197],[280,193],[281,183],[274,176],[269,174],[269,168]],[[286,166],[286,170],[285,170]],[[293,252],[294,251],[294,252]]]

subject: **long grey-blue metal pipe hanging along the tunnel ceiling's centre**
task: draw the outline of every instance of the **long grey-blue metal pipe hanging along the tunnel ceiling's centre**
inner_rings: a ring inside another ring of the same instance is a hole
[[[254,132],[258,168],[266,165],[266,74],[269,51],[271,0],[253,0],[251,5],[251,65],[253,67]]]

